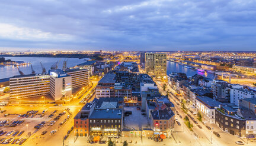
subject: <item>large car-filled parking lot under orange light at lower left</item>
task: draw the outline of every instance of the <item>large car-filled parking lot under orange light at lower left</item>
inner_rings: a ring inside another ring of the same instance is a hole
[[[53,135],[72,118],[66,107],[2,107],[0,144],[20,144],[39,135]]]

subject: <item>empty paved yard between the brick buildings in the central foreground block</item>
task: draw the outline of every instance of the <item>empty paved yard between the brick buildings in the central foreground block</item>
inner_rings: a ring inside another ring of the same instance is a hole
[[[132,111],[132,114],[129,116],[124,116],[124,128],[127,129],[142,129],[142,128],[149,128],[149,122],[146,115],[142,115],[141,110],[137,110],[136,107],[124,107],[124,112]]]

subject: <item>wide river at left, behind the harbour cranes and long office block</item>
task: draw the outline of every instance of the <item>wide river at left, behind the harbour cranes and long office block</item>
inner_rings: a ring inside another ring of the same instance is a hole
[[[84,59],[79,58],[47,58],[47,57],[5,57],[5,60],[11,59],[12,61],[25,61],[25,62],[31,62],[33,65],[34,71],[36,71],[36,74],[41,74],[42,68],[40,65],[40,62],[43,64],[43,66],[46,68],[46,71],[52,67],[52,65],[58,61],[58,68],[62,69],[63,67],[63,61],[65,59],[68,59],[67,67],[73,67],[77,64],[81,64],[84,61]],[[31,74],[31,67],[30,65],[21,65],[19,66],[20,70],[24,74]],[[0,66],[0,79],[1,78],[9,78],[14,75],[20,75],[18,72],[18,69],[14,66]]]

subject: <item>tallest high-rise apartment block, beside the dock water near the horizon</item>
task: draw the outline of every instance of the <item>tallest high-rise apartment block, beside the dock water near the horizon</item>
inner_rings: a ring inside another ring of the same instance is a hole
[[[167,75],[167,56],[162,53],[145,54],[145,70],[156,77],[166,77]]]

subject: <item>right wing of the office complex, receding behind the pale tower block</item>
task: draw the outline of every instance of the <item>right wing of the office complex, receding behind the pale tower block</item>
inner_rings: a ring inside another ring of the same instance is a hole
[[[65,72],[72,78],[72,88],[88,85],[89,75],[87,69],[66,69]]]

